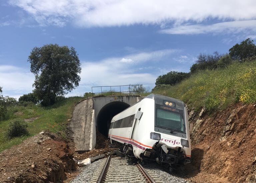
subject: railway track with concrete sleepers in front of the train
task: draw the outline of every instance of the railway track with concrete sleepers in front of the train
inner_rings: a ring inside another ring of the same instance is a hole
[[[162,181],[139,163],[131,165],[125,158],[109,156],[99,166],[90,183],[162,183]]]

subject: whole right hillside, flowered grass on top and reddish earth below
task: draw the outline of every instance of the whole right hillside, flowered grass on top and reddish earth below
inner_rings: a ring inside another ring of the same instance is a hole
[[[194,127],[187,171],[193,181],[256,182],[255,79],[256,61],[237,62],[154,89],[188,104]],[[211,174],[219,178],[212,180]]]

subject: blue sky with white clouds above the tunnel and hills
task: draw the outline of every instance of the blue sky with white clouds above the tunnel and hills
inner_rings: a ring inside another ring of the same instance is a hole
[[[256,40],[254,0],[1,0],[0,86],[3,95],[32,92],[27,58],[45,44],[73,46],[81,82],[92,86],[143,84],[159,75],[189,72],[199,53],[228,53]]]

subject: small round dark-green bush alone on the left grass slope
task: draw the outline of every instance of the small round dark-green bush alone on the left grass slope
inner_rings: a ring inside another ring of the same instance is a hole
[[[15,118],[10,121],[7,128],[7,136],[9,138],[19,137],[23,135],[28,135],[27,130],[28,124],[21,118]]]

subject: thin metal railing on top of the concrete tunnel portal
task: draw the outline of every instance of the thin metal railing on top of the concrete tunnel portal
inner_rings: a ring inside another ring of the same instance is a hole
[[[92,96],[101,95],[140,95],[139,85],[99,86],[92,87]]]

